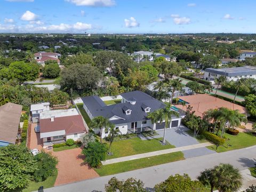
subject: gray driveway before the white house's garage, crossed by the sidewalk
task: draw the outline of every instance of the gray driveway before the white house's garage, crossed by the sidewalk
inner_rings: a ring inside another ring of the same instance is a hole
[[[180,125],[180,127],[178,128],[167,129],[166,141],[168,141],[175,147],[183,147],[183,146],[198,144],[199,142],[186,132],[188,130],[189,129],[183,125]],[[157,130],[156,132],[159,134],[157,135],[157,137],[163,137],[164,130]],[[197,157],[197,156],[213,154],[213,153],[216,153],[216,152],[213,150],[207,149],[206,147],[183,151],[185,158]]]

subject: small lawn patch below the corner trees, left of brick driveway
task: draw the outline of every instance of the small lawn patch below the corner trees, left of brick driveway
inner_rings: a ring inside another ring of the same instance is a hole
[[[44,189],[54,187],[54,183],[57,178],[57,175],[58,175],[58,170],[55,169],[55,171],[53,172],[53,175],[47,178],[45,181],[42,181],[42,182],[30,181],[28,187],[26,189],[23,189],[22,192],[37,191],[37,189],[40,186],[44,186]]]

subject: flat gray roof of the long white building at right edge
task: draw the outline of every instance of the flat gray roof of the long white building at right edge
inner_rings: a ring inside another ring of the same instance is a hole
[[[234,76],[243,76],[243,75],[256,75],[256,67],[252,66],[244,66],[244,67],[234,67],[234,68],[207,68],[205,69],[206,72],[224,75],[228,77]]]

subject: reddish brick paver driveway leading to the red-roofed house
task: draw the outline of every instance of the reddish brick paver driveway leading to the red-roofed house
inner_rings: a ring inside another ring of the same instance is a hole
[[[59,159],[58,176],[54,186],[99,177],[98,173],[84,164],[84,156],[81,155],[81,151],[81,148],[76,148],[52,152]]]

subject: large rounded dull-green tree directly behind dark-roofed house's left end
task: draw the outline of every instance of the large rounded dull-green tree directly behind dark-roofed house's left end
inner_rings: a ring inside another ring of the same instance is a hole
[[[91,65],[74,64],[60,73],[60,85],[63,90],[90,90],[97,87],[102,75]]]

